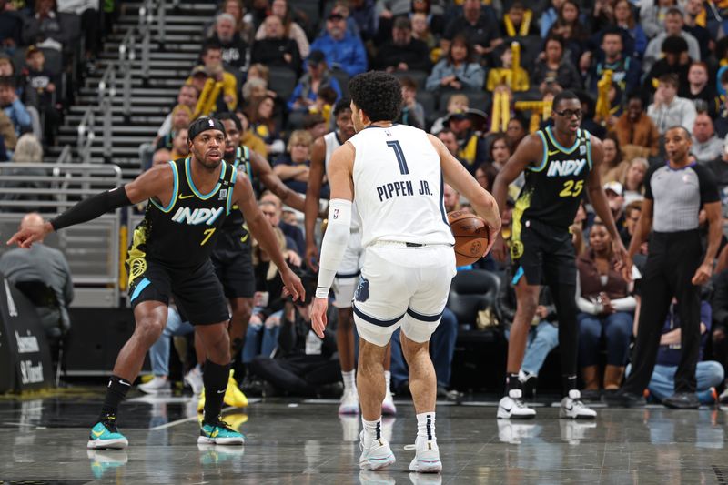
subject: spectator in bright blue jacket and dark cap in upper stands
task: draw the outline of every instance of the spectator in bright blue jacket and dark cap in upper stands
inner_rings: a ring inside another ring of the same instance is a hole
[[[367,70],[367,51],[361,39],[348,34],[346,28],[346,16],[335,7],[326,19],[326,33],[311,44],[311,51],[320,50],[329,67],[356,76]]]

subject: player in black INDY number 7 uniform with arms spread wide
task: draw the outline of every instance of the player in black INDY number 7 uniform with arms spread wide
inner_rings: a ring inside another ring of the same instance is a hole
[[[209,256],[217,235],[234,205],[248,227],[280,269],[288,292],[304,297],[298,277],[288,268],[268,220],[258,210],[248,177],[222,159],[225,127],[213,118],[189,126],[190,156],[152,167],[125,187],[89,197],[43,226],[27,227],[8,244],[29,248],[50,232],[100,217],[110,210],[149,200],[134,231],[127,268],[136,328],[116,358],[113,375],[88,448],[126,448],[128,440],[116,429],[116,413],[136,379],[144,356],[167,324],[169,297],[196,325],[205,345],[205,415],[199,443],[242,444],[243,436],[220,420],[230,365],[227,302]],[[100,322],[103,325],[103,322]]]

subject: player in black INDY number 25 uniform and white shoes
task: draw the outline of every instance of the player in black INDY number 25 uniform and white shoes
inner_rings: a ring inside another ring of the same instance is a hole
[[[581,394],[576,389],[579,328],[576,263],[569,227],[585,191],[612,236],[616,257],[622,260],[626,255],[602,189],[599,174],[602,141],[580,128],[581,102],[571,91],[555,96],[552,109],[553,126],[524,138],[493,186],[498,206],[506,207],[508,186],[525,173],[526,183],[511,218],[512,283],[517,308],[508,345],[507,395],[499,404],[499,419],[530,419],[536,415],[521,400],[519,370],[544,283],[551,289],[559,315],[564,392],[560,417],[596,417],[592,409],[581,403]],[[505,244],[500,235],[493,247],[493,256],[505,259]]]

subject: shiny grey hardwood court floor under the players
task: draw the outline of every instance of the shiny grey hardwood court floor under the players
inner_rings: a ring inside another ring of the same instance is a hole
[[[268,399],[229,409],[245,447],[197,446],[196,401],[130,393],[120,409],[125,451],[88,451],[103,388],[0,399],[0,484],[726,483],[725,411],[597,409],[595,422],[558,419],[547,403],[530,422],[495,419],[495,397],[442,403],[442,475],[410,474],[416,419],[410,401],[385,419],[397,463],[359,472],[359,418],[334,401]]]

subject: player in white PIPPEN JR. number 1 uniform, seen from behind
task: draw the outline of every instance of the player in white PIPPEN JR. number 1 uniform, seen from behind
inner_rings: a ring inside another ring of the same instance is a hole
[[[361,74],[351,79],[349,92],[357,135],[339,147],[329,162],[329,227],[321,248],[312,325],[322,336],[329,288],[349,241],[353,201],[366,255],[353,304],[360,337],[357,386],[364,424],[359,467],[379,470],[395,462],[381,436],[382,362],[389,338],[401,327],[417,412],[416,456],[410,470],[440,472],[435,436],[437,381],[428,347],[455,276],[443,179],[468,197],[486,220],[491,244],[501,229],[501,217],[493,197],[437,137],[392,123],[402,105],[396,77],[377,71]]]

